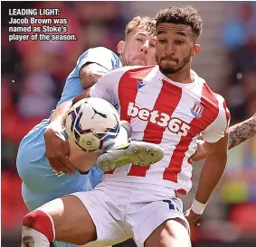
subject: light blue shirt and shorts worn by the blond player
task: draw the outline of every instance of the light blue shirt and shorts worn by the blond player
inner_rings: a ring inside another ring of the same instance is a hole
[[[118,56],[111,50],[103,47],[87,50],[78,59],[75,69],[67,78],[58,105],[81,94],[84,90],[81,87],[79,71],[87,63],[97,63],[108,70],[120,66]],[[102,177],[102,171],[97,166],[88,174],[81,174],[75,170],[74,174],[62,175],[52,170],[46,157],[43,136],[49,123],[50,119],[44,119],[37,124],[24,137],[18,150],[17,169],[24,181],[22,187],[24,202],[30,210],[73,191],[90,190],[100,182]]]

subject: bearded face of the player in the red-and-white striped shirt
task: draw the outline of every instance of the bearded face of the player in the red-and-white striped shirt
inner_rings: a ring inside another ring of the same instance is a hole
[[[200,46],[195,44],[196,35],[188,25],[160,23],[156,28],[156,62],[164,74],[174,74],[190,69],[192,56]]]

